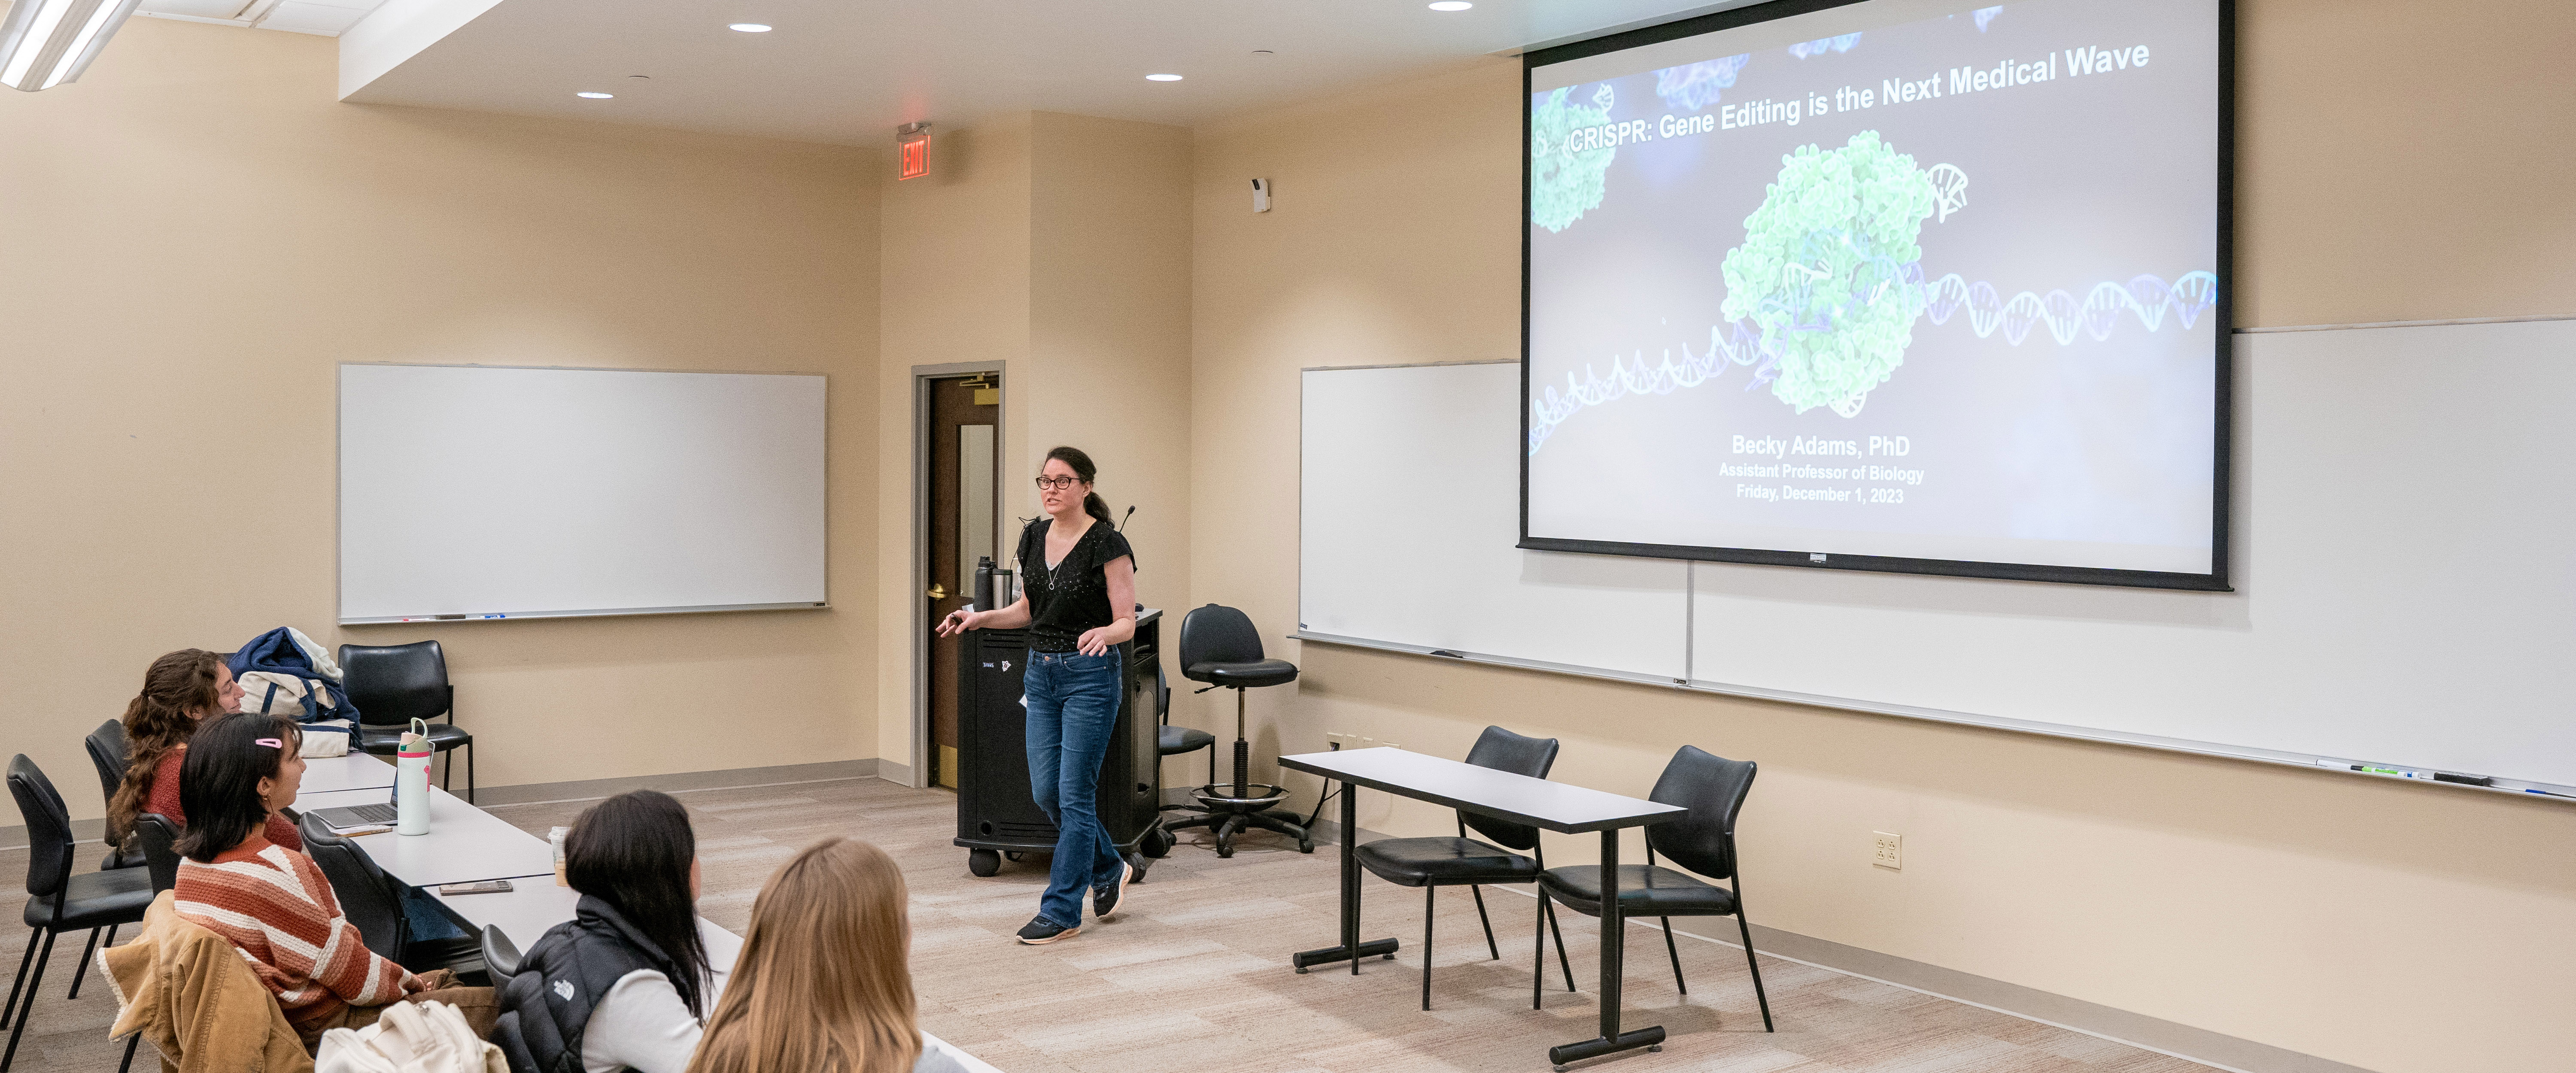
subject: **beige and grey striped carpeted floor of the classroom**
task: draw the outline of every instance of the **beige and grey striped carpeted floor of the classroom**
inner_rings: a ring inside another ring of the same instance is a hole
[[[1154,862],[1110,924],[1074,939],[1020,947],[1010,937],[1036,913],[1043,859],[1002,865],[979,880],[948,844],[956,798],[878,780],[835,780],[677,795],[698,823],[701,913],[742,929],[770,870],[827,834],[876,841],[912,885],[912,980],[922,1027],[1010,1073],[1079,1070],[1546,1070],[1546,1047],[1595,1034],[1597,921],[1564,916],[1574,980],[1566,993],[1551,952],[1546,1009],[1530,1009],[1530,916],[1535,901],[1486,890],[1502,960],[1489,960],[1466,890],[1443,890],[1432,957],[1432,1009],[1422,1011],[1422,893],[1365,880],[1365,937],[1399,937],[1394,962],[1360,975],[1296,975],[1288,955],[1337,942],[1332,847],[1298,854],[1270,834],[1244,836],[1234,859],[1185,841]],[[492,808],[544,834],[587,803]],[[1200,831],[1203,834],[1203,831]],[[98,849],[82,847],[85,870]],[[26,852],[0,852],[0,875],[26,872]],[[18,890],[18,883],[8,883]],[[23,890],[5,906],[21,908]],[[1728,921],[1710,921],[1728,924]],[[1731,929],[1728,929],[1731,931]],[[1710,931],[1716,934],[1716,931]],[[113,1070],[106,1040],[113,996],[90,973],[64,1001],[80,937],[54,947],[44,996],[15,1070]],[[18,960],[26,931],[0,957]],[[2202,1065],[1932,998],[1775,957],[1762,960],[1772,1016],[1765,1034],[1736,947],[1682,937],[1690,996],[1674,993],[1662,937],[1628,934],[1625,1024],[1662,1024],[1664,1052],[1584,1063],[1589,1070],[1999,1070],[1999,1073],[2187,1073]],[[149,1068],[149,1060],[137,1065]]]

